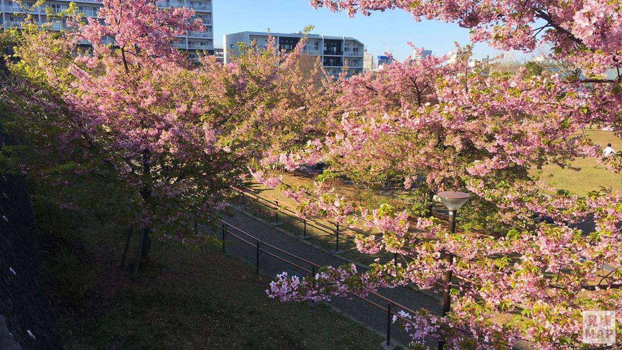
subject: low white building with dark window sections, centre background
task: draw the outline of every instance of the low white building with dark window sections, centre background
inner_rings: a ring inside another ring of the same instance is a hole
[[[267,32],[239,32],[223,35],[225,47],[225,63],[230,61],[231,55],[239,54],[238,42],[250,44],[254,42],[258,47],[267,44],[268,35],[276,39],[279,48],[293,50],[304,36],[302,32],[291,34]],[[327,35],[308,34],[307,44],[302,51],[306,56],[319,56],[327,72],[336,77],[348,61],[348,76],[363,73],[363,43],[353,37],[332,37]]]

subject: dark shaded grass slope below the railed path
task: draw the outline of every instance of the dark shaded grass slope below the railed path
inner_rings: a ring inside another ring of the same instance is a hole
[[[72,253],[52,252],[49,262],[53,271],[59,261],[72,261],[63,267],[75,267],[75,276],[64,280],[83,281],[78,289],[86,290],[60,301],[68,350],[378,349],[383,341],[328,306],[267,298],[270,279],[217,247],[154,243],[159,259],[132,278],[116,268],[123,230],[82,220],[90,225],[71,237]]]

